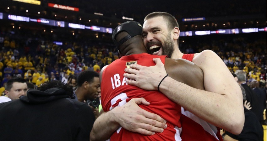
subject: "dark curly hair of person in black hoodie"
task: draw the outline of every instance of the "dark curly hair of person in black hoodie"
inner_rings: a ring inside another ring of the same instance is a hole
[[[70,98],[74,99],[72,86],[67,84],[67,83],[64,84],[58,80],[47,81],[47,82],[43,83],[39,88],[37,88],[37,90],[46,91],[47,89],[50,89],[50,88],[62,88],[66,91],[66,95],[68,95]]]

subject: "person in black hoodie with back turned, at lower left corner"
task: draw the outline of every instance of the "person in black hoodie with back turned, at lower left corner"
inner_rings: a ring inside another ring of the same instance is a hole
[[[48,81],[27,96],[1,103],[0,140],[88,141],[94,113],[72,98],[72,86]]]

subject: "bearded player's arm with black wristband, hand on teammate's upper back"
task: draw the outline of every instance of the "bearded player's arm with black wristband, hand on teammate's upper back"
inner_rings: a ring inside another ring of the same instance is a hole
[[[198,54],[193,62],[203,70],[206,91],[171,77],[162,81],[160,91],[199,118],[231,133],[241,133],[244,125],[242,92],[224,62],[210,50]],[[151,67],[131,65],[134,69],[126,69],[126,72],[133,74],[125,74],[124,77],[136,81],[128,79],[126,82],[146,90],[157,90],[166,72],[164,74],[161,61],[156,63]]]

